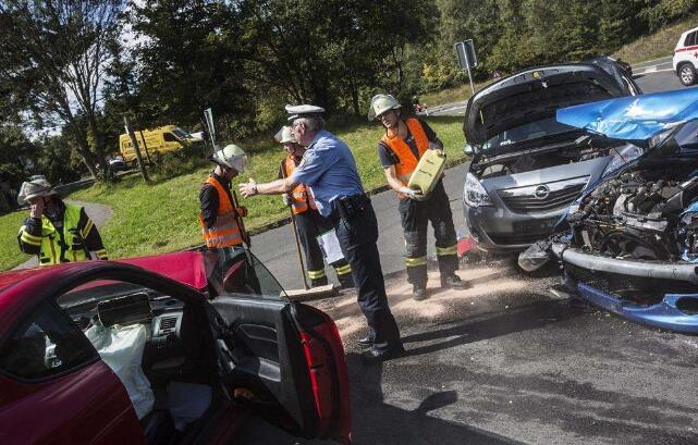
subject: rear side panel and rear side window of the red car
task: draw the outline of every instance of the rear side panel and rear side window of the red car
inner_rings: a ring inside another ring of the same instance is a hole
[[[0,346],[0,444],[143,444],[117,375],[52,302]]]

